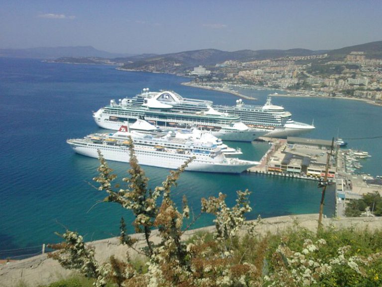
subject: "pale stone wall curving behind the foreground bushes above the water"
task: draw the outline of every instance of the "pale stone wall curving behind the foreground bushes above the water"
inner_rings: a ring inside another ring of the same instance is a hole
[[[262,238],[267,234],[279,234],[290,228],[304,228],[315,232],[317,224],[318,214],[286,215],[261,219],[255,230],[258,236]],[[337,230],[343,228],[378,230],[382,227],[382,219],[381,217],[327,218],[324,216],[322,224],[326,228]],[[214,226],[207,226],[188,230],[182,239],[187,240],[198,231],[213,232],[214,229]],[[240,230],[239,236],[243,236],[246,232],[246,230]],[[133,234],[132,237],[139,240],[138,248],[145,246],[142,234]],[[153,231],[151,239],[154,243],[160,242],[158,230]],[[95,258],[100,263],[108,262],[112,255],[120,260],[125,259],[125,254],[132,258],[139,258],[135,250],[126,245],[121,245],[117,237],[91,241],[86,244],[95,249]],[[58,261],[48,258],[47,254],[42,254],[0,265],[0,287],[18,287],[20,284],[26,287],[47,285],[63,278],[70,278],[73,274],[78,273],[75,270],[64,269]]]

